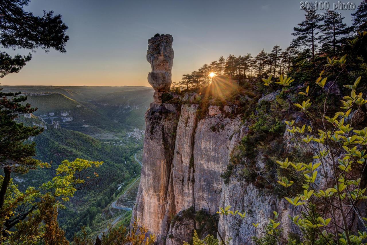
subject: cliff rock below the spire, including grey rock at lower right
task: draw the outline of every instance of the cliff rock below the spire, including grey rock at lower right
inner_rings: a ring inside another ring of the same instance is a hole
[[[272,190],[241,179],[242,165],[234,167],[229,184],[220,177],[249,131],[240,116],[231,114],[229,106],[199,109],[196,104],[152,103],[145,118],[143,168],[132,220],[138,219],[140,225],[156,234],[157,244],[181,245],[190,241],[193,230],[202,228],[195,212],[204,209],[215,214],[218,206],[227,205],[246,211],[247,219],[259,223],[259,227],[265,227],[276,211],[284,239],[289,233],[299,232],[288,218],[298,214],[294,207]],[[283,141],[286,151],[302,148],[301,142],[287,131]],[[254,164],[260,176],[266,171],[265,161],[266,156],[259,151]],[[330,174],[331,169],[326,168],[326,172]],[[360,210],[366,211],[361,205]],[[354,216],[348,217],[348,224],[355,230],[361,228]],[[223,216],[219,217],[218,230],[226,240],[232,239],[230,244],[252,244],[253,236],[262,235],[247,224]],[[205,232],[201,235],[208,234]]]

